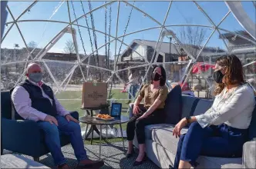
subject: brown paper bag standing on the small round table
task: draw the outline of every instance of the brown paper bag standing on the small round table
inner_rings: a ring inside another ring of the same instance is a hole
[[[106,98],[106,83],[83,83],[82,108],[99,108],[101,104],[106,104]]]

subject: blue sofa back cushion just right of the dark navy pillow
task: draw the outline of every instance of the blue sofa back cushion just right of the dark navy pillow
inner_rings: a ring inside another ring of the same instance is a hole
[[[194,109],[197,106],[197,102],[199,98],[195,98],[192,96],[182,95],[182,111],[181,111],[181,118],[185,118],[188,115],[192,115]]]

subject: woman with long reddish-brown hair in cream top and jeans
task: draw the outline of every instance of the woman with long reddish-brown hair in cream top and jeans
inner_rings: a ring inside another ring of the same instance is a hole
[[[255,105],[254,91],[244,81],[241,61],[235,55],[217,59],[214,80],[218,85],[211,108],[205,114],[181,119],[173,129],[173,135],[180,137],[174,168],[196,167],[200,155],[242,155]],[[187,134],[180,135],[187,124]]]

